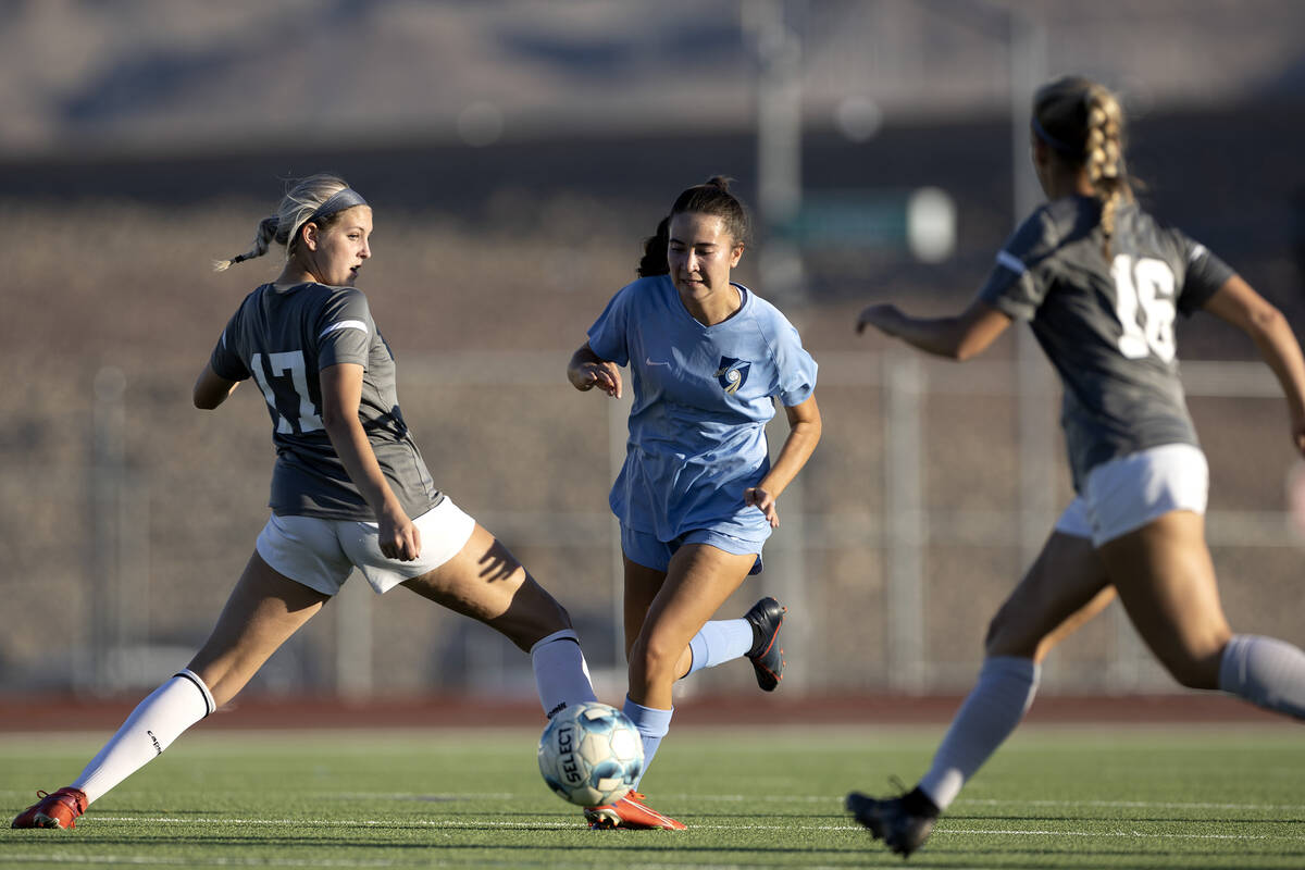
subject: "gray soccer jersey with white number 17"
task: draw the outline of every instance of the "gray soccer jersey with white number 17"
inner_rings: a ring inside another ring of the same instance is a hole
[[[394,496],[408,517],[420,517],[442,496],[403,423],[394,356],[361,292],[264,284],[240,304],[210,359],[214,373],[228,381],[253,376],[268,402],[277,446],[274,513],[375,522],[322,428],[318,373],[341,363],[363,367],[358,416]]]

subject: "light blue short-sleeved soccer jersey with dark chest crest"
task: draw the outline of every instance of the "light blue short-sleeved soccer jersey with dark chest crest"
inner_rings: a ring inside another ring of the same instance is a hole
[[[608,501],[621,523],[663,541],[702,528],[765,541],[770,524],[743,492],[770,468],[775,399],[801,404],[816,389],[816,361],[797,330],[735,287],[743,308],[703,326],[669,277],[641,278],[589,329],[590,348],[628,367],[634,390],[625,466]]]

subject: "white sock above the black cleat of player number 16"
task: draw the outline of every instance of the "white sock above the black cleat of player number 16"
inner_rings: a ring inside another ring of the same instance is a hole
[[[1039,670],[1032,659],[992,656],[984,660],[979,682],[951,720],[933,757],[933,767],[920,779],[920,790],[940,810],[957,800],[966,780],[1015,730],[1034,703]]]

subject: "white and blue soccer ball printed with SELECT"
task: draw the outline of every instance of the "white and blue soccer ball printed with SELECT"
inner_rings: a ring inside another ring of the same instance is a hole
[[[556,713],[539,738],[539,772],[578,806],[625,797],[643,771],[643,740],[616,707],[585,702]]]

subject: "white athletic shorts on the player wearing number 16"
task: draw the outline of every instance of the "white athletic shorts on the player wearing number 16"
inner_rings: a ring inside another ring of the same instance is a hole
[[[1091,537],[1092,547],[1142,528],[1171,510],[1206,513],[1210,467],[1190,443],[1167,443],[1103,462],[1087,472],[1056,531]]]

